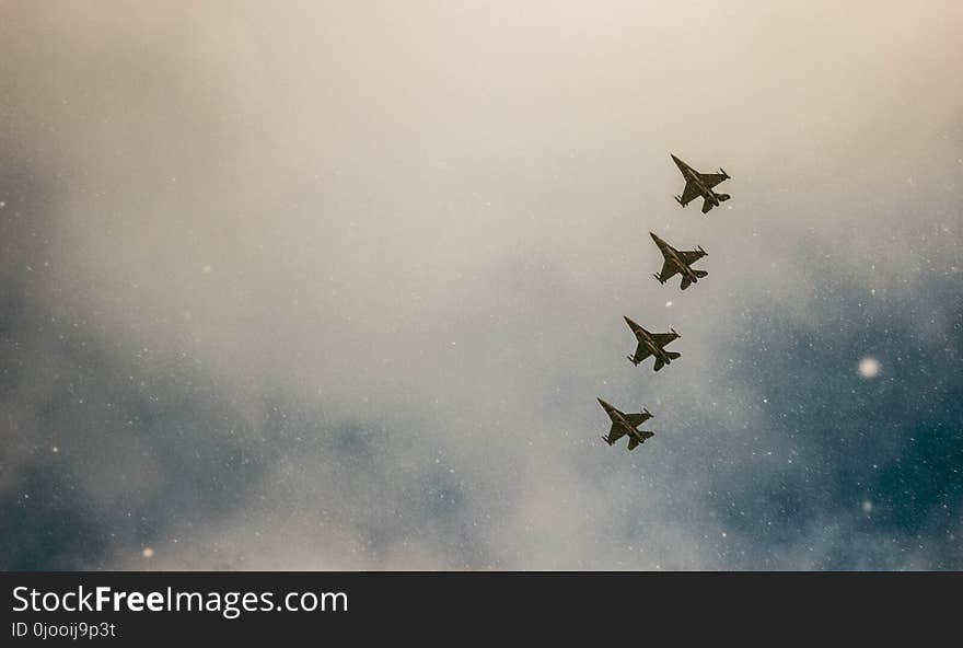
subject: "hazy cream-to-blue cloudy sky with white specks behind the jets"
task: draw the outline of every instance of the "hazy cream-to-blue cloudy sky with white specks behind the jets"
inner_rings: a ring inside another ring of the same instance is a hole
[[[0,568],[963,569],[959,2],[0,5]]]

